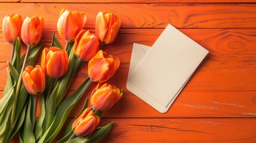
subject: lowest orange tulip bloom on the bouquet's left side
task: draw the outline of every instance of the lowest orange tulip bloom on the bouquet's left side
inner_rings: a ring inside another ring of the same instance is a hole
[[[41,66],[26,67],[22,73],[22,79],[29,94],[37,95],[45,89],[45,73]]]

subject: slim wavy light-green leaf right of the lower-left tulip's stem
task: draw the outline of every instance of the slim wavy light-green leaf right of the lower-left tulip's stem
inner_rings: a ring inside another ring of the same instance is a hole
[[[38,122],[36,122],[36,127],[34,130],[36,141],[42,135],[42,125],[44,123],[44,117],[45,117],[45,100],[44,100],[43,94],[41,94],[40,108],[41,108],[41,112],[38,118]]]

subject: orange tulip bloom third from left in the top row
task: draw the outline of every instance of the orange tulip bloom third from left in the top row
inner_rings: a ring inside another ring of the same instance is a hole
[[[70,12],[62,10],[58,18],[57,29],[64,41],[73,41],[76,35],[84,28],[87,20],[85,13]]]

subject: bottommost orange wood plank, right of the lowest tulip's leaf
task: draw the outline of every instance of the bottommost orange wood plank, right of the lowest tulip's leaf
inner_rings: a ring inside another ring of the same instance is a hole
[[[255,119],[103,119],[103,142],[256,142]]]

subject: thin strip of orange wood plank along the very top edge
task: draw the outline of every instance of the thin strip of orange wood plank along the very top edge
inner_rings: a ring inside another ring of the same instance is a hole
[[[69,0],[58,1],[58,0],[3,0],[1,2],[47,2],[47,3],[255,3],[254,0],[97,0],[97,1],[90,1],[90,0],[75,0],[70,2]]]

